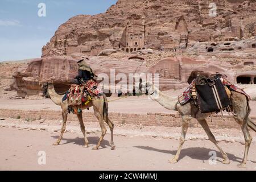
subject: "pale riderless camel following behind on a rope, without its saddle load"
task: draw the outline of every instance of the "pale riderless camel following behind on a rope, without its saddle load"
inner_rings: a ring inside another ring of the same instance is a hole
[[[204,131],[207,133],[209,140],[216,145],[218,150],[220,150],[223,156],[222,163],[224,164],[230,163],[228,155],[226,155],[226,153],[218,145],[214,135],[210,131],[210,128],[206,121],[206,118],[209,117],[210,113],[202,114],[199,110],[199,107],[191,104],[191,102],[188,102],[185,105],[179,104],[179,102],[177,102],[177,98],[166,96],[165,94],[160,92],[160,90],[156,88],[154,84],[152,84],[151,82],[140,83],[139,89],[140,90],[144,89],[144,91],[150,96],[152,100],[155,100],[166,109],[177,110],[181,115],[182,127],[181,127],[179,148],[177,149],[177,153],[174,156],[174,158],[168,160],[168,163],[177,163],[180,156],[181,148],[185,142],[185,135],[187,133],[189,121],[191,120],[191,118],[197,119],[197,121],[203,127]],[[253,121],[251,121],[249,117],[250,106],[246,96],[238,92],[233,92],[233,91],[231,92],[232,92],[232,95],[230,97],[230,101],[232,102],[232,106],[233,106],[234,119],[241,126],[243,135],[245,137],[245,152],[244,152],[243,160],[241,164],[237,165],[237,167],[246,167],[247,155],[248,155],[249,147],[252,140],[252,137],[249,133],[247,126],[256,132],[256,125],[253,123]]]

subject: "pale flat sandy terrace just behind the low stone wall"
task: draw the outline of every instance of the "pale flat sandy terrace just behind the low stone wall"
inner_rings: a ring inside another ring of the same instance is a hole
[[[13,96],[14,97],[14,96]],[[176,113],[165,109],[158,102],[150,100],[147,96],[133,96],[128,98],[110,97],[109,112],[117,113]],[[251,115],[256,115],[256,101],[250,101]],[[53,104],[48,98],[44,100],[13,100],[0,97],[0,109],[19,110],[61,110],[60,106]],[[91,110],[91,109],[90,109]]]

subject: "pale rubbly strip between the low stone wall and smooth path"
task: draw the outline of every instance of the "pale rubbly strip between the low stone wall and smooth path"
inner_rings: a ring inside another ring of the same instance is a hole
[[[0,118],[1,119],[1,118]],[[0,121],[0,127],[11,127],[18,130],[42,130],[51,133],[60,133],[62,120],[40,119],[35,121],[26,121],[26,119],[5,118]],[[105,124],[107,133],[110,134],[109,127]],[[94,133],[100,135],[101,130],[98,122],[85,122],[86,131],[88,134]],[[243,133],[240,129],[211,129],[218,142],[231,142],[244,144]],[[134,124],[115,123],[114,135],[123,137],[152,137],[163,139],[180,138],[181,127],[164,127],[164,126],[143,126]],[[66,133],[80,134],[80,125],[77,121],[68,121]],[[256,133],[251,132],[253,144],[256,144]],[[187,133],[188,140],[207,140],[208,137],[205,131],[200,127],[189,128]]]

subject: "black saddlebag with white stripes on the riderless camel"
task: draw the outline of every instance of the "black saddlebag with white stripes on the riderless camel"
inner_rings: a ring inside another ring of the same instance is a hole
[[[197,101],[201,113],[218,112],[231,105],[226,90],[220,78],[216,79],[216,84],[196,85]]]

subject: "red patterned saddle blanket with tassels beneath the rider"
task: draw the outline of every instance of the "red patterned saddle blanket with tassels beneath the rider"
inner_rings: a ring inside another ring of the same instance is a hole
[[[72,84],[64,97],[68,99],[69,106],[80,106],[87,101],[88,96],[100,96],[103,93],[96,81],[89,80],[81,85]]]

